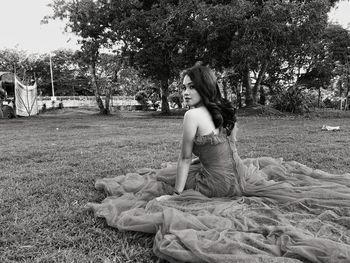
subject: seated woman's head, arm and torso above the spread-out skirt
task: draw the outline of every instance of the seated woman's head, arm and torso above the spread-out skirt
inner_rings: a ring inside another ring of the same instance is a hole
[[[183,76],[183,98],[190,110],[185,113],[183,121],[174,193],[194,189],[208,197],[237,195],[236,150],[232,133],[236,122],[235,109],[221,97],[216,77],[208,67],[195,66],[186,70]],[[192,160],[192,153],[198,158]],[[171,184],[173,180],[169,179],[174,174],[175,167],[161,170],[158,180]]]

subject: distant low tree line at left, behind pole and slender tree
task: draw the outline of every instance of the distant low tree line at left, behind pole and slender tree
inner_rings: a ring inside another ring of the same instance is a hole
[[[93,96],[94,87],[88,65],[81,58],[81,51],[55,50],[51,53],[55,96]],[[50,54],[29,54],[22,50],[0,50],[0,72],[16,73],[17,78],[30,85],[34,81],[38,94],[52,96]],[[141,77],[132,67],[115,71],[120,56],[100,54],[96,66],[96,81],[101,93],[110,89],[113,95],[134,96],[141,90],[149,93],[157,90],[153,81]],[[147,94],[148,94],[147,93]]]

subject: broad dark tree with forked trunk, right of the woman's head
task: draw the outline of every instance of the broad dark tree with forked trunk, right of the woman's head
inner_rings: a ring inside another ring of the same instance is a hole
[[[197,53],[215,68],[239,72],[246,105],[256,104],[270,68],[281,73],[288,67],[284,77],[291,78],[298,59],[310,54],[334,2],[201,1],[193,35],[204,41],[197,41]]]

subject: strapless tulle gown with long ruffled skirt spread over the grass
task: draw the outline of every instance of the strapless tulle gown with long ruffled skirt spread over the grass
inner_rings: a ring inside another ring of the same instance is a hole
[[[155,233],[169,262],[350,262],[350,174],[281,158],[241,160],[224,130],[196,136],[185,191],[176,164],[96,181],[96,216],[119,230]]]

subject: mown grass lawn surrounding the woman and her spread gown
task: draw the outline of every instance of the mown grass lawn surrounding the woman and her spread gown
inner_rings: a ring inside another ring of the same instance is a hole
[[[98,177],[175,161],[181,122],[70,110],[0,120],[0,262],[157,262],[152,235],[118,232],[84,205],[105,197],[93,187]],[[242,117],[239,127],[242,158],[350,172],[349,118]]]

